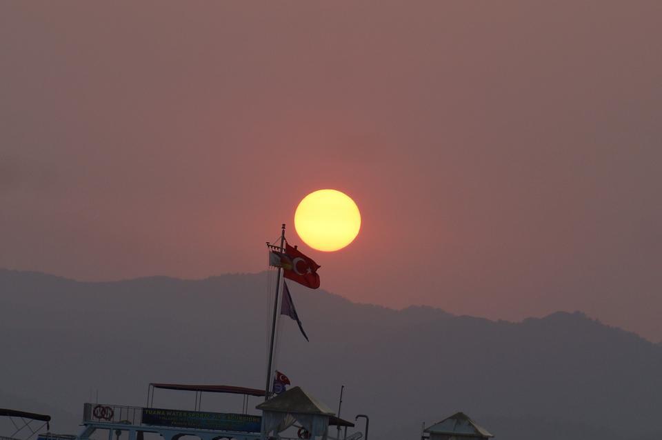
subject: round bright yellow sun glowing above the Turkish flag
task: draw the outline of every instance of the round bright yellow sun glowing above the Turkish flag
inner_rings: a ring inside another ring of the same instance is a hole
[[[332,252],[352,243],[361,228],[354,201],[337,190],[318,190],[301,200],[294,212],[294,228],[313,249]]]

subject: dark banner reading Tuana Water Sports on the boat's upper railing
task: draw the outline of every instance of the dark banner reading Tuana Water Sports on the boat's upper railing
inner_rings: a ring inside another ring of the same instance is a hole
[[[260,432],[262,417],[228,412],[202,412],[143,408],[142,423],[178,428]]]

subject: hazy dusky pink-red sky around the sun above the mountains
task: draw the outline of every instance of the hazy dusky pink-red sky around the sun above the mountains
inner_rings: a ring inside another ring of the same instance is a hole
[[[0,267],[257,272],[336,188],[327,290],[659,341],[660,41],[659,1],[3,1]]]

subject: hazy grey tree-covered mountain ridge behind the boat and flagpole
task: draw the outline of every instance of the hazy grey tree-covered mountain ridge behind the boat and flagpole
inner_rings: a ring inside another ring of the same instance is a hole
[[[0,270],[0,350],[11,359],[0,387],[73,414],[97,389],[100,401],[143,405],[150,381],[261,388],[269,276],[92,283]],[[278,368],[331,408],[345,385],[341,415],[370,414],[371,437],[416,440],[423,421],[457,410],[497,439],[536,427],[543,440],[662,434],[662,346],[581,312],[512,323],[290,288],[311,342],[283,321]]]

